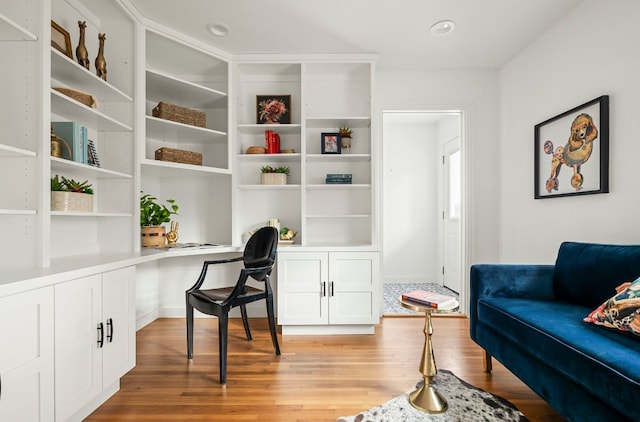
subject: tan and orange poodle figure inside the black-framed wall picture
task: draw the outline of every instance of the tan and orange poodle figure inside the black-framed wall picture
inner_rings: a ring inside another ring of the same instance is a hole
[[[593,152],[593,141],[597,137],[598,129],[593,124],[593,118],[586,113],[582,113],[573,120],[569,141],[564,147],[559,146],[554,151],[553,142],[548,140],[544,143],[544,152],[552,155],[551,173],[545,185],[547,192],[551,193],[553,190],[558,190],[558,176],[560,175],[562,164],[573,169],[571,187],[576,191],[582,189],[584,179],[580,173],[580,167],[589,161],[589,157]]]

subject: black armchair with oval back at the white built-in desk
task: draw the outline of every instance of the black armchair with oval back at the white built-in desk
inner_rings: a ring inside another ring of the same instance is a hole
[[[242,258],[205,261],[202,271],[200,272],[200,277],[198,277],[196,283],[186,291],[187,357],[189,359],[193,358],[194,309],[208,315],[217,316],[221,384],[224,384],[227,379],[227,340],[229,311],[231,309],[240,307],[244,331],[247,335],[247,340],[251,340],[252,337],[246,305],[247,303],[264,299],[267,304],[267,317],[273,347],[276,355],[280,354],[273,310],[273,291],[269,280],[269,275],[276,260],[277,247],[278,230],[274,227],[263,227],[251,236],[245,246]],[[238,262],[241,260],[244,262],[244,268],[240,271],[240,276],[235,286],[217,289],[200,289],[206,279],[209,265]],[[249,277],[256,281],[263,282],[265,286],[264,290],[247,286],[246,282]]]

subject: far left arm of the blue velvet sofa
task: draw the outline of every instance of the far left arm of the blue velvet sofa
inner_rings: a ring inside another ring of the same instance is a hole
[[[479,300],[488,297],[553,300],[553,269],[553,265],[473,265],[469,292],[472,338],[478,320]]]

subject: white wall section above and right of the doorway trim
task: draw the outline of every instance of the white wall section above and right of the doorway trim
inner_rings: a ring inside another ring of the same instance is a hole
[[[466,163],[463,167],[468,169],[463,177],[469,195],[467,262],[496,262],[498,72],[377,72],[375,85],[375,116],[379,119],[384,110],[462,110],[463,163]],[[382,139],[381,134],[378,139]],[[410,155],[411,151],[405,154]],[[385,158],[382,157],[383,162]],[[463,279],[466,278],[463,274]]]

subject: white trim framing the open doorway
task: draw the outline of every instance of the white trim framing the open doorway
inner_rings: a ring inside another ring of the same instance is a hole
[[[376,232],[378,236],[376,237],[379,242],[380,248],[383,245],[382,239],[382,201],[384,200],[383,191],[382,191],[382,162],[384,160],[383,157],[383,114],[384,113],[416,113],[416,112],[425,112],[425,113],[434,113],[434,114],[459,114],[460,116],[460,153],[461,153],[461,181],[462,181],[462,204],[460,210],[460,276],[462,278],[461,288],[459,292],[459,301],[460,301],[460,312],[467,315],[469,313],[469,268],[470,268],[470,257],[471,257],[471,244],[472,244],[472,236],[471,236],[471,183],[470,183],[470,160],[468,157],[468,151],[470,151],[469,145],[469,132],[468,128],[470,127],[470,112],[466,107],[433,107],[429,105],[412,105],[407,106],[406,104],[381,104],[376,107],[376,112],[374,116],[376,118],[376,122],[374,122],[375,127],[372,128],[372,135],[375,134],[374,138],[374,148],[375,148],[375,157],[379,157],[374,162],[374,178],[375,178],[375,186],[376,186],[376,199],[374,201],[374,209],[375,215],[377,216],[375,225]],[[378,140],[378,141],[376,141]],[[441,199],[440,199],[441,200]],[[384,251],[382,251],[384,253]],[[383,260],[381,260],[382,262]],[[384,271],[382,272],[384,274]],[[383,277],[381,277],[382,279]]]

